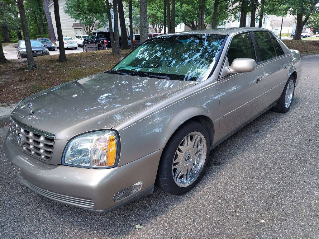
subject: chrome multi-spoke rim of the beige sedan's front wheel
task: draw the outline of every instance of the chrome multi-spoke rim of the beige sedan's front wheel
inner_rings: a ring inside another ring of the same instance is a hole
[[[187,187],[196,181],[206,160],[207,143],[200,132],[188,134],[174,155],[172,174],[175,184]]]

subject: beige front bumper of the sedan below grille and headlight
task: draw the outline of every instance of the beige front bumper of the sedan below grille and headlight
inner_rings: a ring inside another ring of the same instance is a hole
[[[85,169],[41,162],[24,153],[8,132],[4,152],[11,169],[33,191],[68,205],[108,211],[145,194],[152,194],[162,150],[121,167]],[[139,191],[114,202],[115,193],[139,181],[143,182]]]

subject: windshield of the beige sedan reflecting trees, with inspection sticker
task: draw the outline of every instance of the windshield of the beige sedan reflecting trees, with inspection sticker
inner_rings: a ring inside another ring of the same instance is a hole
[[[212,70],[225,36],[194,34],[151,38],[112,70],[196,81]]]

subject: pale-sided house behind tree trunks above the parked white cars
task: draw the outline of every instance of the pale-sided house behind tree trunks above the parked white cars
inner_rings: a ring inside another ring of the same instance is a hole
[[[59,13],[60,13],[60,21],[62,27],[63,36],[68,36],[74,38],[76,35],[87,35],[85,32],[85,28],[83,24],[76,22],[73,18],[71,18],[68,14],[64,12],[66,0],[59,0]],[[57,36],[56,31],[56,19],[54,17],[54,5],[53,0],[49,2],[49,11],[52,18],[52,24],[54,28],[54,33]],[[112,18],[112,27],[114,31],[114,14],[113,9],[111,9],[111,18]],[[125,19],[126,20],[126,19]],[[109,31],[108,24],[106,26],[100,27],[97,31]],[[96,31],[93,29],[93,31]],[[121,34],[120,23],[119,23],[119,34]]]

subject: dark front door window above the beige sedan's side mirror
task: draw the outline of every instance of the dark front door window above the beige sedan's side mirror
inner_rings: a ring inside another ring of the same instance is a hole
[[[256,61],[255,49],[249,33],[234,36],[230,43],[227,57],[229,65],[231,65],[236,58],[251,58]]]

